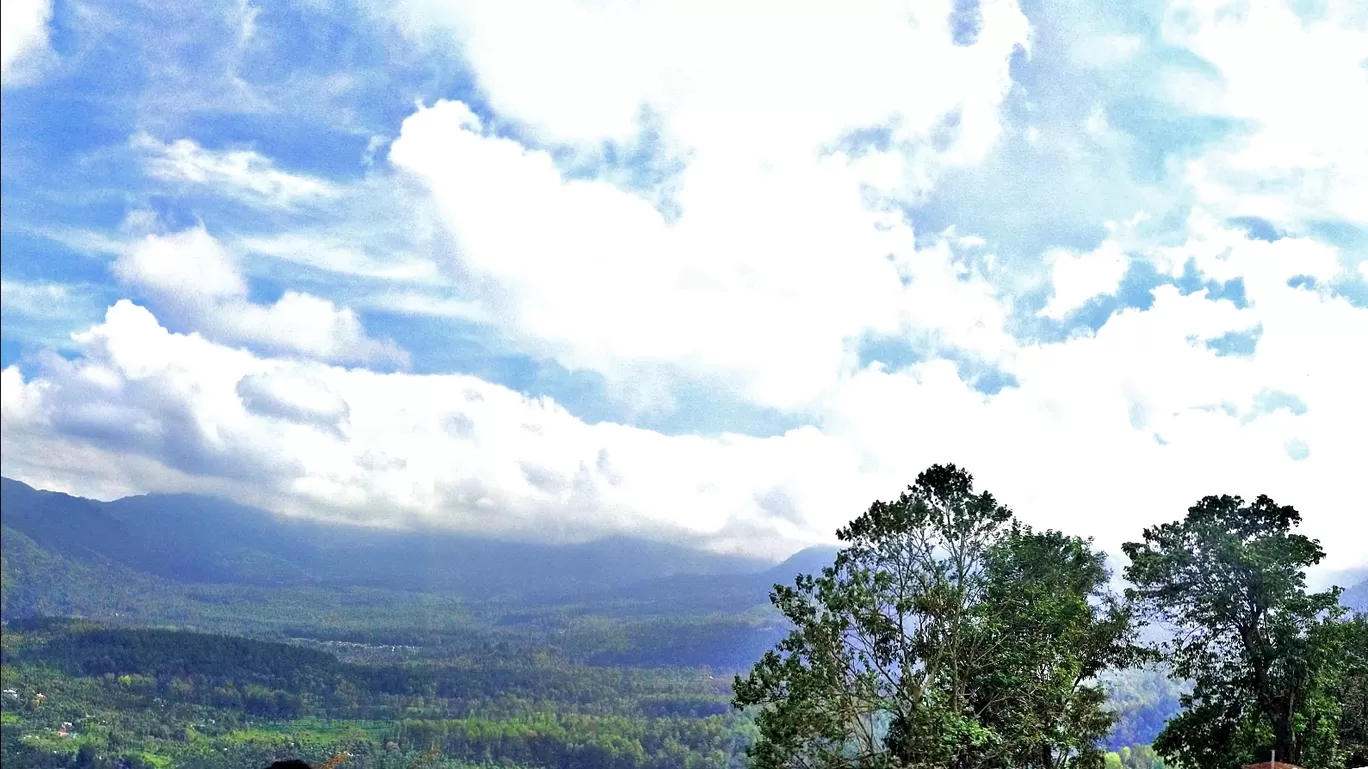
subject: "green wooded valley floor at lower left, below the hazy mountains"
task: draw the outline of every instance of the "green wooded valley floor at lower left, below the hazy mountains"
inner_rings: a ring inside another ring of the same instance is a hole
[[[750,722],[699,670],[550,658],[363,665],[241,638],[37,620],[4,629],[4,765],[725,769]],[[64,722],[70,733],[62,735]],[[389,746],[389,747],[387,747]]]

